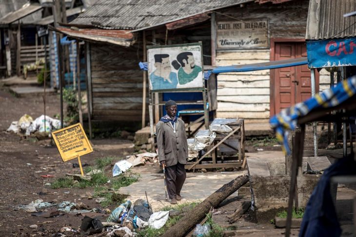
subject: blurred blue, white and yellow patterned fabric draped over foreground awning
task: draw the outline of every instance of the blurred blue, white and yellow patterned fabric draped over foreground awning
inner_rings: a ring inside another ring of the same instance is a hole
[[[315,97],[298,103],[270,119],[271,127],[275,130],[278,141],[282,143],[282,149],[290,154],[288,146],[288,130],[294,130],[299,117],[318,108],[335,107],[356,94],[356,75],[339,82],[335,87],[316,94]]]

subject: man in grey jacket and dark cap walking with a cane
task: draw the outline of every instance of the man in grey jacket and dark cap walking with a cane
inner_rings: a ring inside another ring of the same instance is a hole
[[[188,142],[183,120],[176,117],[177,104],[165,104],[167,114],[156,125],[159,163],[166,167],[166,183],[171,204],[181,200],[180,190],[186,178]]]

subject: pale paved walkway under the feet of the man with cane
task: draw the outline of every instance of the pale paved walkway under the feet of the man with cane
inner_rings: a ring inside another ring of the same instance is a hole
[[[166,201],[165,199],[163,173],[159,173],[158,166],[134,167],[133,171],[141,175],[139,181],[120,188],[121,194],[128,194],[130,201],[136,201],[137,199],[146,199],[146,191],[148,201],[154,211],[170,205],[170,200]],[[178,201],[178,204],[203,201],[225,183],[244,174],[247,174],[247,169],[236,172],[187,172],[187,179],[181,191],[182,200]]]

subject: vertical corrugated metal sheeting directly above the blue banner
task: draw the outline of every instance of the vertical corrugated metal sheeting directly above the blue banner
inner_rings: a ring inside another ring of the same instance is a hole
[[[345,13],[356,11],[356,0],[310,0],[306,39],[356,36],[356,18]]]

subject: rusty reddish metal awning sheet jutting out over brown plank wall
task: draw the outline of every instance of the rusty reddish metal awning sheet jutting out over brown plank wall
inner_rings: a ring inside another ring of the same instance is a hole
[[[100,41],[129,47],[134,43],[134,34],[129,30],[78,29],[57,27],[57,31],[74,38]]]

